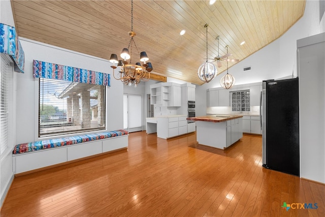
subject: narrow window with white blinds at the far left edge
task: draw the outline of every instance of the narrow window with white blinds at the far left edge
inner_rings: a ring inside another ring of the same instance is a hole
[[[10,64],[1,55],[0,63],[0,155],[8,148],[8,77]]]

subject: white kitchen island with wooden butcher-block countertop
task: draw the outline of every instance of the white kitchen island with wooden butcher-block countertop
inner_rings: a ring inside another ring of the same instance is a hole
[[[243,137],[243,115],[222,114],[190,117],[196,121],[199,144],[225,149]]]

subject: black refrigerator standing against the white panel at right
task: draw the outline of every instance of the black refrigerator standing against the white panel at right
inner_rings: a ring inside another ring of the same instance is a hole
[[[298,77],[262,83],[263,166],[299,176]]]

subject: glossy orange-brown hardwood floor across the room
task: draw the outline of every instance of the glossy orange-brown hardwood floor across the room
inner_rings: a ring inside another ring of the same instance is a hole
[[[223,151],[194,133],[131,133],[127,150],[15,177],[1,216],[325,216],[325,185],[265,169],[261,154],[261,136]]]

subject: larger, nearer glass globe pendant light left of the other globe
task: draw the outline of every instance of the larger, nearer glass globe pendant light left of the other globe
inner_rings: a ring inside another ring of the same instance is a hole
[[[204,27],[207,28],[207,60],[199,67],[198,76],[203,82],[209,83],[217,76],[217,68],[208,61],[208,24]]]

